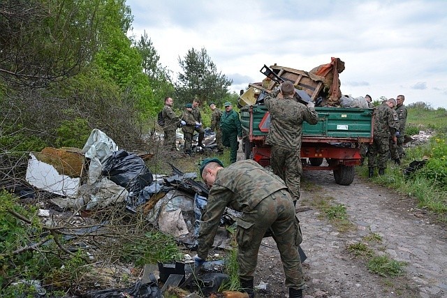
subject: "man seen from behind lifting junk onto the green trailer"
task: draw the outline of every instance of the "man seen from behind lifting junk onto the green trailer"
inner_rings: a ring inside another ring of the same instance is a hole
[[[272,146],[270,165],[274,174],[286,182],[296,204],[300,198],[302,174],[300,158],[302,122],[317,124],[318,114],[315,112],[314,103],[310,102],[306,107],[294,99],[295,87],[291,82],[284,82],[281,85],[281,94],[283,98],[266,96],[264,99],[265,106],[270,112],[270,131],[265,143]]]

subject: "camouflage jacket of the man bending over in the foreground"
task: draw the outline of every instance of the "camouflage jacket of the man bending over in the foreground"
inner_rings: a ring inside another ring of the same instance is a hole
[[[281,178],[250,159],[219,170],[200,221],[198,256],[207,258],[225,207],[249,212],[268,195],[281,189],[286,189]],[[262,214],[260,220],[261,217]]]

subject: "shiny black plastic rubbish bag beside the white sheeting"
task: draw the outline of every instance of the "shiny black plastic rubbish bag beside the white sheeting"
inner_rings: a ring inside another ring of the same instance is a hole
[[[134,194],[152,184],[152,173],[136,154],[118,150],[104,161],[101,174]]]

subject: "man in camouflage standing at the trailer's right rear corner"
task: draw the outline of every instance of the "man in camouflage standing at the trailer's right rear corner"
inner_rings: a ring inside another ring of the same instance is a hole
[[[389,140],[396,142],[397,114],[393,107],[396,100],[390,98],[379,105],[374,112],[374,141],[368,147],[368,177],[374,176],[374,168],[379,167],[379,175],[385,174]]]

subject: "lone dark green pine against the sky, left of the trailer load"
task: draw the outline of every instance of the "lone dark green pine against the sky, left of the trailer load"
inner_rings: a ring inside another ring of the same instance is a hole
[[[181,103],[191,103],[194,98],[200,103],[223,103],[233,81],[217,71],[205,48],[200,51],[192,48],[183,60],[179,58],[178,61],[183,73],[179,73],[175,91]]]

